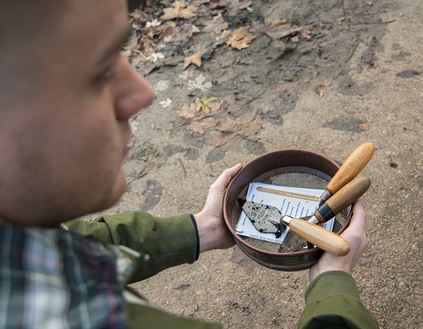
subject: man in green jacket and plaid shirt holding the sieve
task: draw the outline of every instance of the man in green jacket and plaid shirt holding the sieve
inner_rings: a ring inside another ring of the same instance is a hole
[[[120,54],[128,33],[124,0],[0,2],[0,328],[219,327],[165,314],[125,285],[233,246],[221,205],[240,164],[195,216],[69,221],[121,197],[129,118],[154,98]],[[350,254],[324,254],[309,272],[302,326],[377,326],[348,274],[367,247],[362,204],[354,213]],[[336,290],[319,294],[328,282]]]

